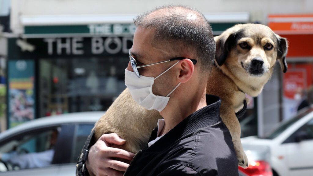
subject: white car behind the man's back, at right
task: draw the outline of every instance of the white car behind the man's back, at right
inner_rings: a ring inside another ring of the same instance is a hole
[[[282,123],[266,138],[241,138],[247,148],[269,148],[274,176],[313,175],[313,107]],[[248,156],[249,158],[249,156]]]

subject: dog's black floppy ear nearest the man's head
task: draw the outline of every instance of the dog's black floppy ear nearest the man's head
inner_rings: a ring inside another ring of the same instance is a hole
[[[235,38],[235,33],[230,33],[225,36],[219,36],[216,43],[215,60],[218,66],[222,66],[227,58],[228,52],[231,49],[231,44]]]

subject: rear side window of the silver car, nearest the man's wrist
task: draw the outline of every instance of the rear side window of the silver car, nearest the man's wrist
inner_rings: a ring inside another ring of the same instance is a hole
[[[74,135],[74,144],[72,150],[71,163],[77,163],[78,157],[80,156],[81,149],[83,148],[91,129],[94,124],[80,124],[77,125]]]

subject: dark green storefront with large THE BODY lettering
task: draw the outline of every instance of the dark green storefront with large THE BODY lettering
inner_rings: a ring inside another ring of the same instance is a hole
[[[215,35],[249,22],[249,13],[228,15],[207,16]],[[133,18],[21,17],[23,34],[8,38],[8,127],[54,114],[105,111],[126,88]]]

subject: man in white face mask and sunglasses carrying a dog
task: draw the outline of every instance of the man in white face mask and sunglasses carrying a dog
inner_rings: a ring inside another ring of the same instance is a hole
[[[102,135],[89,150],[89,173],[123,175],[127,168],[124,175],[131,176],[238,175],[232,138],[219,117],[221,101],[205,93],[215,58],[208,21],[192,8],[165,6],[134,22],[137,29],[125,84],[137,103],[158,110],[164,121],[152,132],[149,147],[135,157],[110,147],[125,140]],[[141,91],[145,83],[151,83],[152,92]]]

